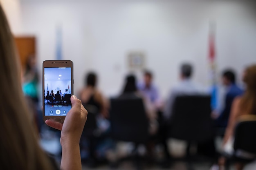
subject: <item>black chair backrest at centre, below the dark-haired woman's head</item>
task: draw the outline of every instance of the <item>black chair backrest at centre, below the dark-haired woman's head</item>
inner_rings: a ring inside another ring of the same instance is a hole
[[[111,134],[116,140],[144,143],[148,140],[148,118],[141,98],[133,94],[110,99]]]

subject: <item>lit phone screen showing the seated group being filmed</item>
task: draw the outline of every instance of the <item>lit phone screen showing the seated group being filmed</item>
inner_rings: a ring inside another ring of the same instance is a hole
[[[71,109],[71,67],[45,67],[45,116],[66,116]]]

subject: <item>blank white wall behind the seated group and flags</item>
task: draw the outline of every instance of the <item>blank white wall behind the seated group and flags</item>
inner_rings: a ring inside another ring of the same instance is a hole
[[[22,33],[37,38],[38,68],[53,60],[56,27],[63,26],[63,59],[74,62],[74,93],[84,73],[96,70],[106,95],[118,93],[129,51],[144,51],[155,84],[166,97],[181,62],[195,66],[194,78],[209,84],[209,22],[216,22],[218,73],[256,63],[256,4],[236,0],[22,0]],[[11,18],[10,18],[11,19]],[[13,24],[13,23],[11,23]],[[15,33],[15,30],[13,30]]]

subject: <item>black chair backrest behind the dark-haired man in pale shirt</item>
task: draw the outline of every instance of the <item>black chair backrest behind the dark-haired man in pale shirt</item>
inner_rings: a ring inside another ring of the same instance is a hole
[[[177,96],[170,119],[169,137],[189,142],[213,139],[211,97],[209,95]]]

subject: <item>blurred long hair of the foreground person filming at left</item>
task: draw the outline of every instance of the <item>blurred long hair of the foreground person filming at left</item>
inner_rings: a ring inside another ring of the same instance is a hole
[[[13,36],[0,5],[0,167],[4,170],[52,170],[29,119],[16,54]]]

